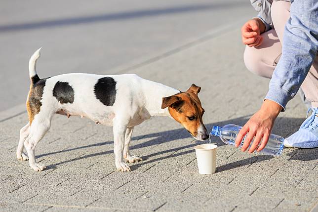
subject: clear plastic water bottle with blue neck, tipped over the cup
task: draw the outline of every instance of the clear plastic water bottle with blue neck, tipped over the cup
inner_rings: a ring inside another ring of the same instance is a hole
[[[241,128],[242,127],[237,125],[225,125],[223,127],[213,126],[210,136],[211,135],[219,136],[224,143],[229,145],[234,145],[235,139]],[[243,146],[246,135],[243,137],[242,142],[239,145],[240,147]],[[282,149],[284,148],[283,142],[284,142],[283,137],[279,135],[271,134],[268,139],[267,145],[260,152],[266,155],[274,155],[274,156],[281,155]]]

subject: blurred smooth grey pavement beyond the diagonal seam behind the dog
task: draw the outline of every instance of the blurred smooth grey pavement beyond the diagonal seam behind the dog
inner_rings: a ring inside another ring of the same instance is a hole
[[[0,111],[24,104],[41,46],[40,78],[118,74],[255,15],[248,0],[1,0]]]

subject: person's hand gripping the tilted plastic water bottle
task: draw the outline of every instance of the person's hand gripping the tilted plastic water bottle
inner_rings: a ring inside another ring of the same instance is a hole
[[[264,149],[274,126],[274,122],[281,109],[282,107],[278,103],[266,99],[261,109],[248,120],[243,128],[239,130],[238,136],[235,140],[235,146],[239,146],[243,137],[248,132],[241,151],[244,152],[249,147],[254,136],[255,138],[248,150],[248,153],[252,153],[255,150],[259,152]]]

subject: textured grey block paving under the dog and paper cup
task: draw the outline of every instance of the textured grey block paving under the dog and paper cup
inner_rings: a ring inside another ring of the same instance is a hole
[[[238,29],[220,30],[125,72],[181,90],[200,85],[208,129],[242,125],[268,87],[268,80],[244,68],[243,48]],[[289,135],[305,115],[294,98],[274,132]],[[36,173],[15,159],[26,123],[26,113],[0,122],[0,211],[308,212],[317,204],[318,149],[285,149],[271,157],[241,153],[213,139],[219,146],[216,173],[200,175],[198,142],[174,121],[154,118],[133,134],[132,152],[144,161],[130,164],[131,172],[118,172],[112,128],[55,116],[36,151],[47,170]]]

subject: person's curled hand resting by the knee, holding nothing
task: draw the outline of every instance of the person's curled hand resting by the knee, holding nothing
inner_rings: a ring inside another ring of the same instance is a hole
[[[264,31],[265,25],[260,19],[247,21],[241,28],[242,42],[249,47],[260,46],[263,42],[261,33]]]

